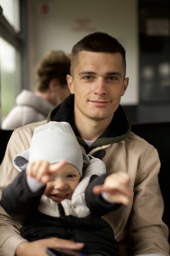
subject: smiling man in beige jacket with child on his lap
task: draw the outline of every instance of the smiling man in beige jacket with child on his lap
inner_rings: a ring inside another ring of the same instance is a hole
[[[158,185],[158,153],[130,132],[130,124],[119,105],[129,82],[125,78],[124,48],[105,33],[87,35],[72,49],[70,71],[67,83],[72,95],[54,108],[47,120],[69,122],[82,151],[102,159],[107,172],[129,173],[130,189],[134,193],[130,204],[103,217],[113,227],[120,255],[152,252],[169,255],[168,228],[162,221],[163,199]],[[42,124],[14,131],[1,164],[2,187],[17,175],[12,166],[13,157],[29,148],[35,127]],[[55,243],[53,238],[33,243],[23,240],[19,225],[3,209],[1,212],[3,256],[14,255],[15,250],[16,256],[45,256],[47,247],[63,246],[63,241]]]

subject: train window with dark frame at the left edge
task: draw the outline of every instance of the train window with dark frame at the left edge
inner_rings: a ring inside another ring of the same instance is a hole
[[[22,10],[20,8],[23,2],[0,0],[0,125],[15,106],[16,96],[22,89],[23,34],[20,13],[23,7]]]

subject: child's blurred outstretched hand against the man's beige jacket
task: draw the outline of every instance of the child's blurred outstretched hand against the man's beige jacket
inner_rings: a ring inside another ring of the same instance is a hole
[[[129,204],[132,195],[129,189],[130,176],[124,172],[114,172],[106,177],[103,185],[93,188],[95,194],[106,193],[115,203]]]

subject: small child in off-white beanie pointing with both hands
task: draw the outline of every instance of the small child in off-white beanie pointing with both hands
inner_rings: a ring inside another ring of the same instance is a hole
[[[3,189],[0,204],[23,225],[22,237],[28,241],[70,238],[84,243],[83,250],[91,254],[119,255],[113,229],[101,216],[118,209],[120,203],[128,204],[127,173],[106,174],[102,160],[82,154],[67,122],[37,127],[29,152],[17,155],[13,162],[20,173]],[[102,187],[111,191],[94,194]]]

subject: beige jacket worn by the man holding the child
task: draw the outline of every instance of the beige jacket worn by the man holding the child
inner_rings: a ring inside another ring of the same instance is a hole
[[[29,148],[35,127],[45,123],[29,124],[13,132],[0,166],[1,189],[18,173],[12,164],[13,157]],[[101,148],[106,151],[102,160],[107,172],[128,172],[130,189],[134,192],[128,206],[104,216],[120,243],[120,255],[152,252],[169,255],[168,228],[162,221],[164,205],[158,185],[160,162],[156,149],[132,132],[124,141],[97,147],[89,154]],[[16,247],[24,239],[20,236],[19,225],[2,208],[0,214],[0,256],[14,256]],[[128,254],[125,253],[127,245]]]

